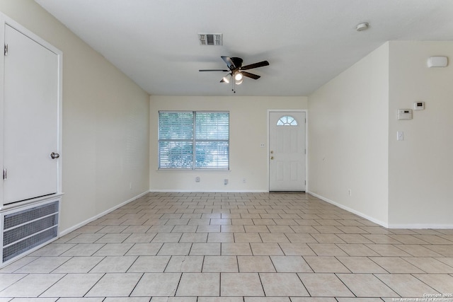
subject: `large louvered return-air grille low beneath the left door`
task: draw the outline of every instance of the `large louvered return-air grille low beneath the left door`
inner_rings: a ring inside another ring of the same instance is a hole
[[[3,262],[58,236],[59,201],[4,215]]]

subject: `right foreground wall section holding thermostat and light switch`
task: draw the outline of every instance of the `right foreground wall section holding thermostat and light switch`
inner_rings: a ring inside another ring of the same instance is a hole
[[[449,57],[428,68],[428,57]],[[453,42],[390,42],[389,224],[453,228]],[[398,108],[425,101],[413,120]],[[396,141],[396,132],[404,140]]]

